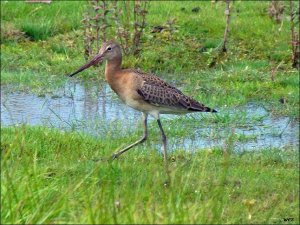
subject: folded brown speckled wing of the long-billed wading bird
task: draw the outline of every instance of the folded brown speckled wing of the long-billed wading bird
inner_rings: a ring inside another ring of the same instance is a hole
[[[174,87],[158,86],[147,81],[137,90],[145,101],[156,106],[176,107],[187,111],[214,112]]]

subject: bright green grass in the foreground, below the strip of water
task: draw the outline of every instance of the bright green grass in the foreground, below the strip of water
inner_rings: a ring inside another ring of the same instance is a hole
[[[298,152],[218,149],[161,155],[128,138],[1,129],[1,223],[284,223],[299,220]],[[102,159],[94,161],[95,159]],[[250,219],[251,217],[251,219]]]

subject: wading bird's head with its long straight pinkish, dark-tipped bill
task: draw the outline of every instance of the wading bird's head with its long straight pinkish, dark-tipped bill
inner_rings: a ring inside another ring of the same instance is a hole
[[[121,57],[122,57],[122,51],[118,43],[114,41],[104,42],[102,44],[102,47],[99,50],[99,53],[90,62],[86,63],[78,70],[76,70],[74,73],[70,74],[69,76],[72,77],[77,73],[80,73],[81,71],[91,67],[92,65],[96,65],[105,60],[113,60]]]

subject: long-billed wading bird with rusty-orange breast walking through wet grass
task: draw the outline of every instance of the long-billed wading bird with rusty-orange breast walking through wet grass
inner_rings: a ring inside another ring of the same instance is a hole
[[[147,139],[148,115],[157,120],[163,142],[164,160],[167,162],[167,138],[160,122],[160,114],[216,112],[216,110],[184,95],[180,90],[155,75],[135,69],[122,69],[122,51],[120,45],[114,41],[103,43],[99,53],[89,63],[69,76],[72,77],[104,60],[107,61],[105,67],[106,81],[126,105],[142,112],[144,124],[142,138],[113,154],[113,159]]]

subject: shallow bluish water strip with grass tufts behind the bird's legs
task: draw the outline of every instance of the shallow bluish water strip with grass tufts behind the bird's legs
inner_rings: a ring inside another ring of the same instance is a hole
[[[230,135],[239,137],[234,139],[231,145],[237,151],[299,148],[299,123],[290,121],[288,117],[273,117],[257,104],[248,104],[236,109],[222,109],[218,117],[228,117],[229,120],[234,118],[227,125],[201,123],[207,116],[212,115],[199,113],[183,116],[184,120],[189,122],[183,121],[183,125],[175,127],[188,129],[189,132],[184,136],[180,134],[169,136],[170,148],[189,150],[230,146],[228,142]],[[175,121],[173,126],[178,119],[178,116],[163,117],[164,121],[170,124]],[[141,126],[140,113],[121,103],[106,84],[87,85],[79,82],[67,82],[64,88],[55,92],[55,95],[42,96],[10,92],[8,87],[2,86],[1,126],[21,123],[84,131],[107,137],[120,134],[128,136],[137,132],[136,129]],[[202,125],[196,126],[195,123]],[[168,133],[168,127],[165,127],[165,130]],[[150,143],[157,142],[157,138],[155,140]]]

